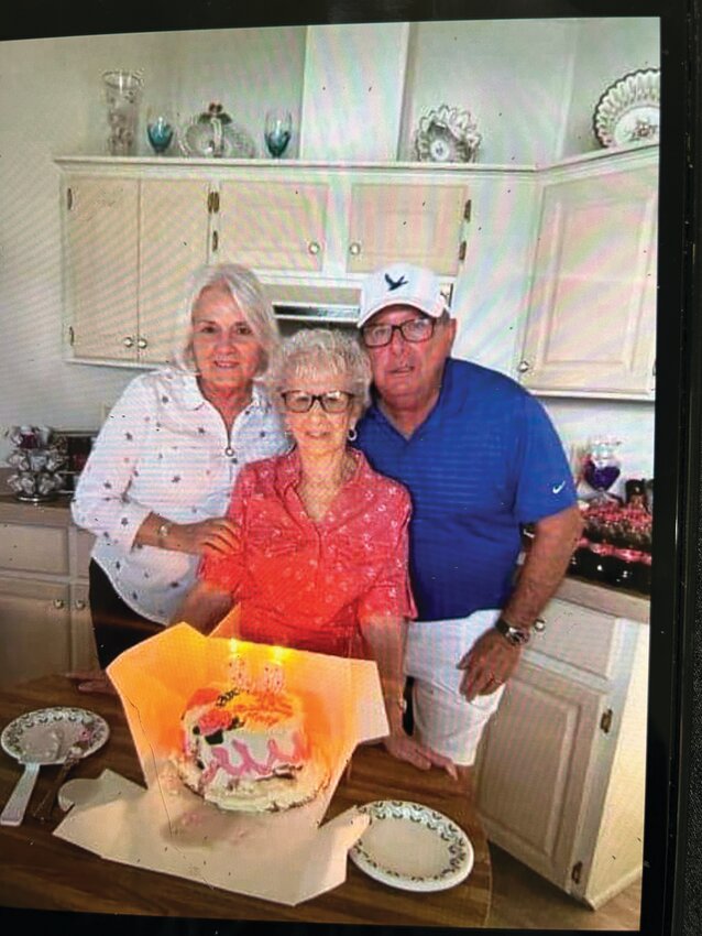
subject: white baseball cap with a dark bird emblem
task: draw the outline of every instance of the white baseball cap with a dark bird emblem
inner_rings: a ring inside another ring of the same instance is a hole
[[[432,318],[448,309],[438,277],[431,270],[409,263],[381,266],[363,281],[358,327],[388,305],[410,305]]]

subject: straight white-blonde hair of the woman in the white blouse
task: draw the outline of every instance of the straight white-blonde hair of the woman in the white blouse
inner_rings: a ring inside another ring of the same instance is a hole
[[[268,361],[281,347],[281,333],[263,284],[246,266],[238,263],[216,263],[198,266],[188,280],[186,301],[178,311],[174,327],[173,359],[185,371],[195,371],[193,355],[193,309],[204,290],[226,290],[251,327],[263,353],[259,372],[263,373]]]

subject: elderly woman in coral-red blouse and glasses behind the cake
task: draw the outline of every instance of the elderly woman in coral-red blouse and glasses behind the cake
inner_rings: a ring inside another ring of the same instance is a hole
[[[209,633],[238,605],[235,636],[379,666],[391,728],[384,743],[419,768],[453,773],[403,729],[404,622],[415,616],[407,575],[407,491],[351,448],[369,401],[370,366],[354,337],[300,330],[266,374],[294,447],[245,466],[228,518],[239,547],[204,557],[174,616]]]

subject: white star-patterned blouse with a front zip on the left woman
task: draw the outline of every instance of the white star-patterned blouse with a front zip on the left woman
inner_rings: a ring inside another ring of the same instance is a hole
[[[288,448],[275,407],[254,384],[231,433],[193,374],[136,377],[112,407],[72,503],[97,536],[92,558],[138,614],[166,624],[193,585],[199,557],[134,543],[149,513],[197,523],[227,513],[241,467]]]

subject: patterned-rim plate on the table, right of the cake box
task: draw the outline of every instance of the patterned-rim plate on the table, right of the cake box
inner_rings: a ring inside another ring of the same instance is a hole
[[[402,799],[359,807],[371,824],[349,851],[369,877],[403,891],[443,891],[473,869],[473,847],[448,816]]]

